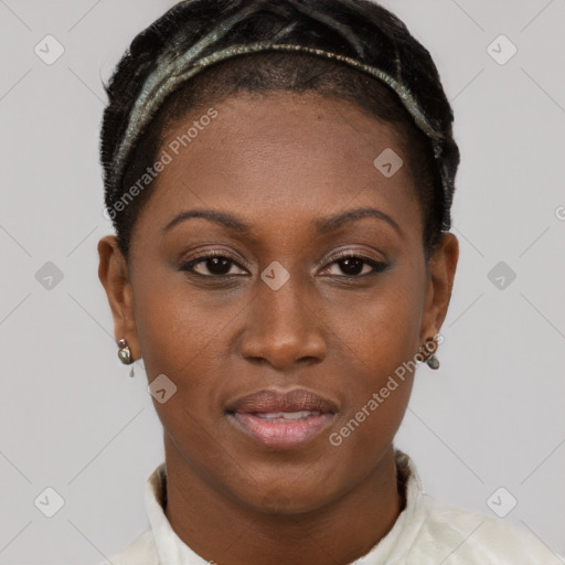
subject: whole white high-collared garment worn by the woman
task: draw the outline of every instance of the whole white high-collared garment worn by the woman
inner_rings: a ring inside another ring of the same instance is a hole
[[[388,534],[355,565],[563,565],[525,529],[434,500],[423,492],[411,458],[396,450],[396,461],[405,478],[406,505]],[[111,558],[114,565],[209,563],[172,530],[161,504],[166,489],[163,462],[145,487],[150,527]]]

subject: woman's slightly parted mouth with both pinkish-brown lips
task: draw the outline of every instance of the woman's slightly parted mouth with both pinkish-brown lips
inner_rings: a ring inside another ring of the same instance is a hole
[[[228,405],[226,415],[239,431],[274,450],[296,449],[331,425],[338,406],[305,388],[265,390]]]

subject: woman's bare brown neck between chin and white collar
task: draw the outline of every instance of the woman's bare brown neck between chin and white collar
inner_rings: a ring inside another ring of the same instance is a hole
[[[166,516],[196,554],[218,565],[337,565],[371,551],[404,505],[393,446],[354,489],[300,514],[257,512],[206,482],[164,435]]]

